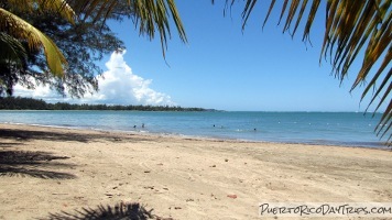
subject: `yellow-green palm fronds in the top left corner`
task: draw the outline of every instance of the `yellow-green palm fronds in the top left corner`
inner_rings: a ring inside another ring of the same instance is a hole
[[[12,13],[17,11],[22,14],[32,10],[55,11],[68,22],[74,21],[74,11],[64,0],[0,1],[0,45],[3,50],[0,55],[1,92],[12,91],[12,85],[17,79],[11,73],[24,68],[28,65],[29,53],[41,48],[43,48],[51,73],[58,77],[64,75],[63,66],[66,65],[66,61],[54,42],[29,22]]]

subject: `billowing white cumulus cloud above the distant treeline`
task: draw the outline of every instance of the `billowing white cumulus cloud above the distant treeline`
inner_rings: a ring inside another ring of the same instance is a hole
[[[131,67],[123,59],[124,53],[126,51],[111,54],[110,59],[106,63],[108,70],[98,78],[99,91],[92,95],[87,94],[83,99],[64,99],[45,86],[37,86],[34,90],[29,90],[17,85],[14,95],[34,97],[47,101],[107,105],[175,105],[168,95],[151,88],[151,79],[143,79],[132,73]]]

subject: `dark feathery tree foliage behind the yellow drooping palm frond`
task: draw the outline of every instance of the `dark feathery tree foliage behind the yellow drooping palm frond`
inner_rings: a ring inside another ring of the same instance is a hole
[[[70,4],[73,1],[69,1]],[[0,2],[2,8],[7,4]],[[123,42],[107,25],[109,19],[124,18],[127,7],[118,7],[111,15],[99,21],[76,20],[70,24],[58,14],[47,11],[31,11],[21,14],[22,19],[40,29],[50,36],[62,50],[68,66],[63,78],[50,74],[45,56],[42,52],[28,51],[24,63],[0,62],[0,96],[12,95],[13,86],[21,84],[34,89],[32,79],[37,85],[50,85],[61,95],[68,92],[80,98],[86,92],[98,90],[97,76],[102,69],[97,65],[105,54],[122,48]]]

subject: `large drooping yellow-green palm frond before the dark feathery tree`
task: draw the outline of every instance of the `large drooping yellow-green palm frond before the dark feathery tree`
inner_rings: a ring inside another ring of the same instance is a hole
[[[0,8],[0,31],[15,38],[26,41],[30,50],[43,47],[48,68],[55,76],[64,75],[66,61],[53,41],[15,14]]]

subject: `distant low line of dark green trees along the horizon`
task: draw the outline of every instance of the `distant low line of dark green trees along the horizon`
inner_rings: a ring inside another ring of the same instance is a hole
[[[4,97],[0,98],[0,110],[111,110],[111,111],[211,111],[202,108],[171,106],[107,106],[88,103],[47,103],[42,99]]]

